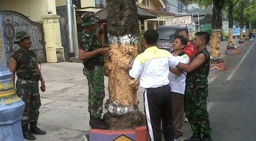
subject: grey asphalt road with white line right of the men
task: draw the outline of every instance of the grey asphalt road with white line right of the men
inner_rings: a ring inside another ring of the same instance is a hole
[[[226,55],[225,71],[216,73],[218,77],[209,85],[207,107],[213,140],[256,140],[255,42],[239,55]],[[185,123],[183,137],[190,137],[190,130]]]

